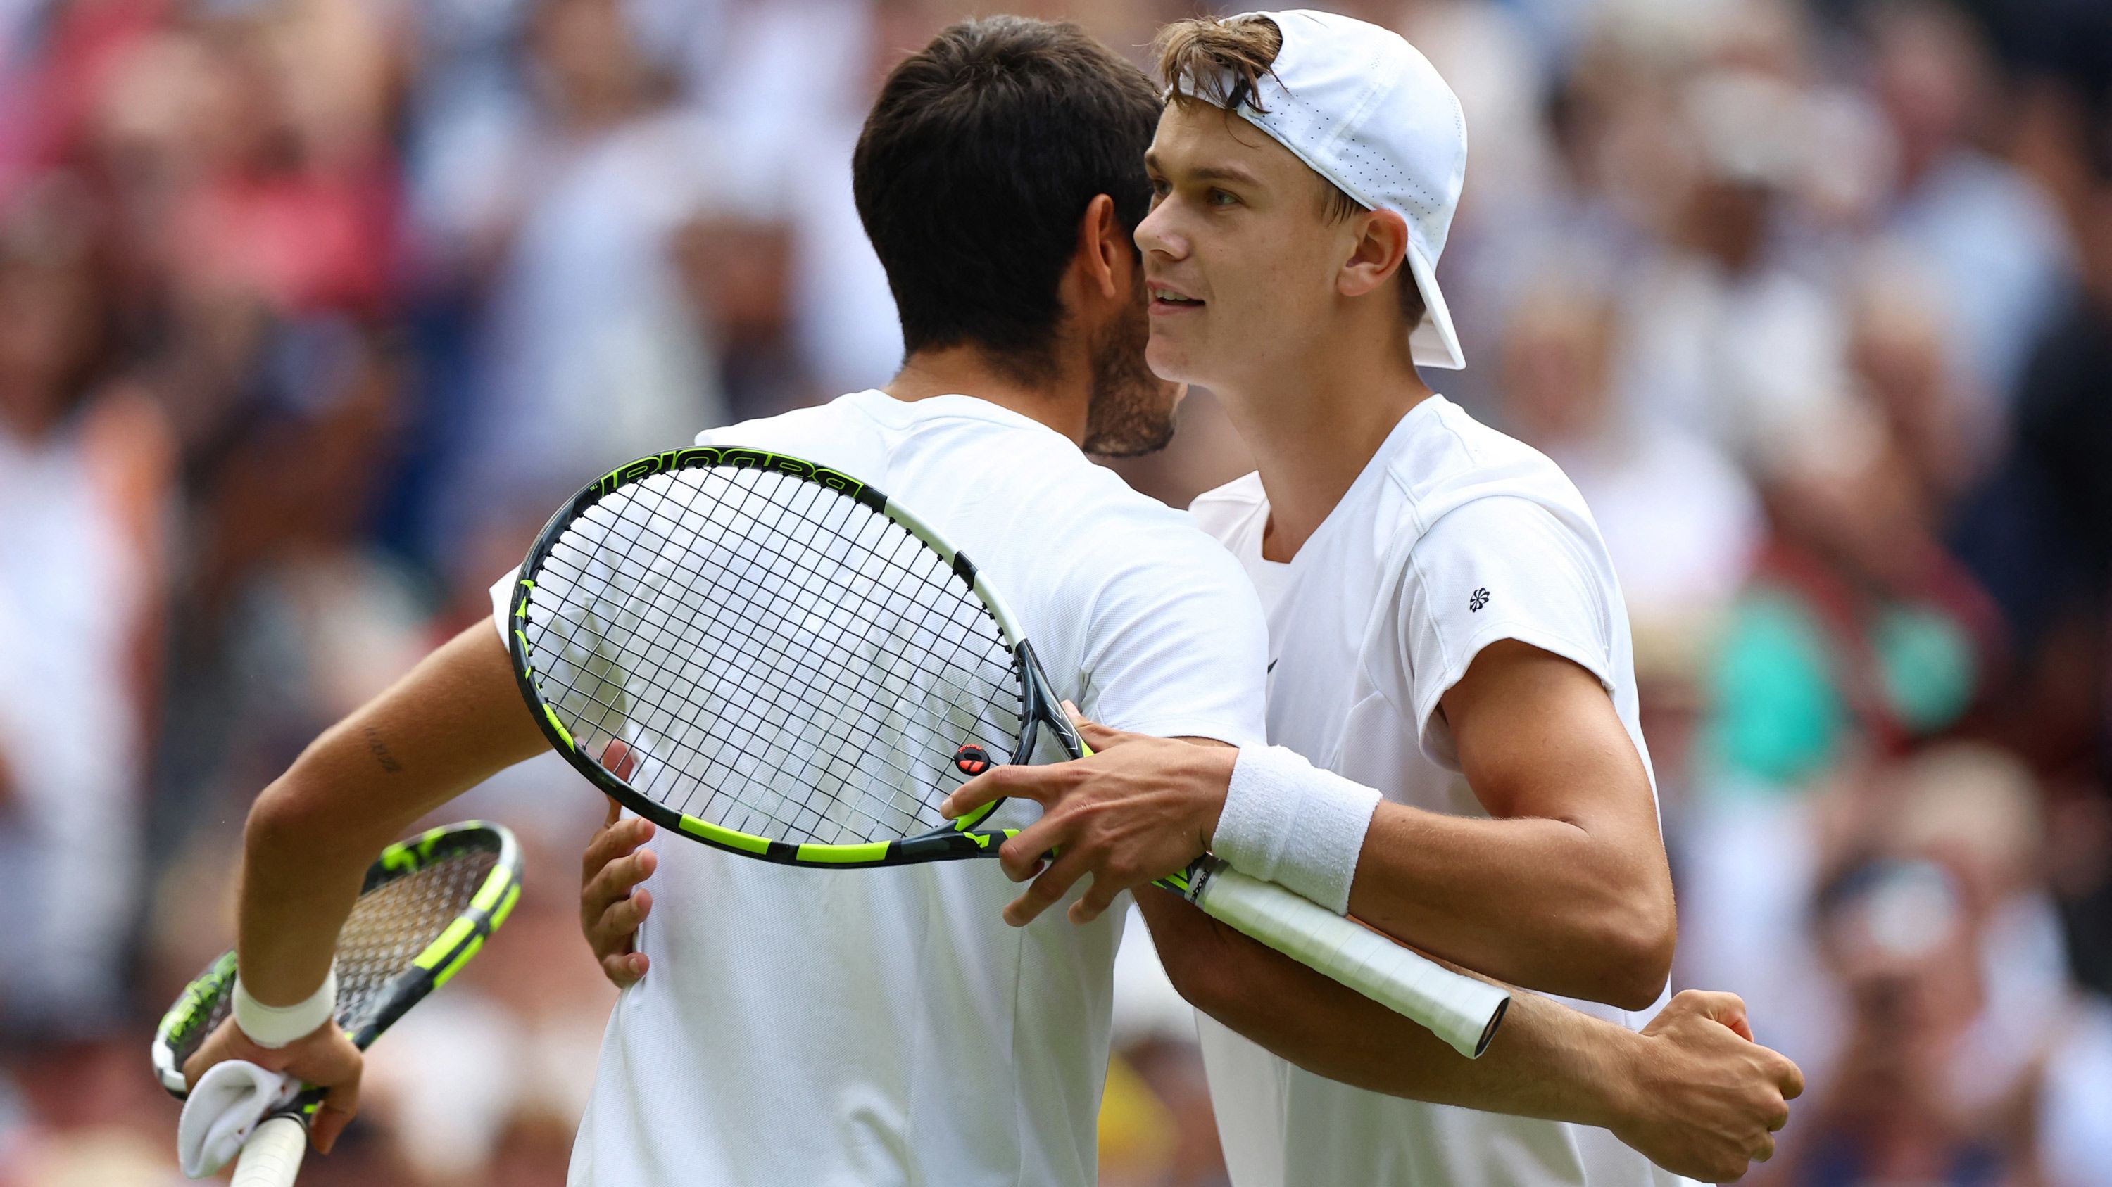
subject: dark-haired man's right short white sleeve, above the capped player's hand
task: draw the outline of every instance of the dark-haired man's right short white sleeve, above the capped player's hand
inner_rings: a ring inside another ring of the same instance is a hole
[[[1088,716],[1155,737],[1265,746],[1269,627],[1240,562],[1174,511],[1130,539],[1138,547],[1086,613]]]

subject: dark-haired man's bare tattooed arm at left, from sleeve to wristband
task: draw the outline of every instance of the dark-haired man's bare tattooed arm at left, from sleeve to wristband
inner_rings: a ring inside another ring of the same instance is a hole
[[[243,834],[243,984],[304,999],[374,855],[412,822],[543,746],[490,623],[334,724],[258,796]]]

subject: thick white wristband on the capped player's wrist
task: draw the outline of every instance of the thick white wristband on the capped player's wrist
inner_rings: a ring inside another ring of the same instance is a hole
[[[1379,792],[1282,746],[1242,746],[1210,851],[1341,915]]]

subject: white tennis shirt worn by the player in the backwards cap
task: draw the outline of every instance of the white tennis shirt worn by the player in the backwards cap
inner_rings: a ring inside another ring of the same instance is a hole
[[[1261,558],[1257,475],[1189,511],[1261,591],[1269,741],[1394,803],[1487,815],[1436,708],[1481,648],[1514,638],[1592,672],[1649,767],[1628,613],[1590,511],[1554,463],[1445,397],[1400,418],[1290,564]],[[1569,1005],[1624,1026],[1649,1016]],[[1685,1183],[1607,1130],[1364,1092],[1195,1018],[1236,1187]]]

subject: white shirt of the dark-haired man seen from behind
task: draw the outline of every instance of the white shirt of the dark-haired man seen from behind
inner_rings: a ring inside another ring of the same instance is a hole
[[[1094,720],[1261,741],[1267,629],[1240,566],[1048,427],[862,391],[697,444],[885,490],[976,562]],[[492,589],[501,623],[511,587]],[[608,1020],[572,1187],[1094,1183],[1126,910],[1007,927],[1020,887],[997,862],[800,870],[665,834],[655,851],[653,972]]]

